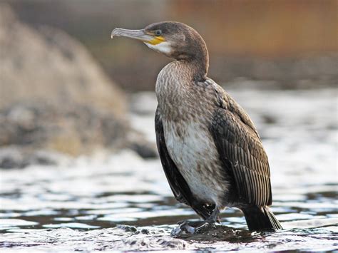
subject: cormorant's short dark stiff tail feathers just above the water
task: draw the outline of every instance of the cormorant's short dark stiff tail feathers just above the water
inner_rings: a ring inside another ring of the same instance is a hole
[[[269,207],[245,207],[242,208],[247,221],[247,227],[253,230],[270,230],[282,229],[280,222],[277,220]]]

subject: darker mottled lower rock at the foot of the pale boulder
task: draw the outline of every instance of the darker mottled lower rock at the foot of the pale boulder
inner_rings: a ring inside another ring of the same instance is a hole
[[[46,148],[75,156],[97,148],[126,148],[129,131],[126,120],[89,105],[56,108],[31,101],[0,110],[1,145]]]

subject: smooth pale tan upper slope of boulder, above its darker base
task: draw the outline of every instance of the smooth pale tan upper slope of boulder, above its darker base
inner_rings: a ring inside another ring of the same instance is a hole
[[[39,31],[0,7],[0,108],[22,100],[51,105],[86,104],[121,115],[125,95],[81,43],[63,31]]]

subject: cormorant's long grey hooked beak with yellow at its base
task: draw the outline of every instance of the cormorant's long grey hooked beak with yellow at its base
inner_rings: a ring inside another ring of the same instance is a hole
[[[113,38],[113,36],[135,38],[139,41],[150,43],[152,45],[156,45],[158,43],[165,41],[165,39],[162,36],[153,36],[150,33],[147,33],[144,29],[128,30],[128,29],[116,28],[116,29],[113,29],[113,31],[111,32],[111,38]]]

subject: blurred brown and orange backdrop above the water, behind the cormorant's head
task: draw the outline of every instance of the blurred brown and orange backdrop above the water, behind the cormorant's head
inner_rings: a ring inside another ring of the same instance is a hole
[[[210,51],[210,76],[218,82],[246,78],[285,88],[337,83],[334,0],[8,2],[21,21],[35,28],[52,26],[81,41],[128,91],[153,91],[158,71],[170,60],[135,41],[111,41],[111,30],[142,29],[165,20],[199,31]]]

